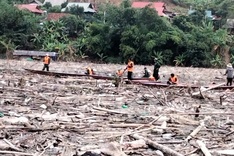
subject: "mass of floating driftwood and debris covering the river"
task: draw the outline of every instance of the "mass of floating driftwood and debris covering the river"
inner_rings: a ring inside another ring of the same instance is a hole
[[[162,156],[173,152],[173,156],[199,155],[202,148],[196,142],[198,138],[209,143],[207,148],[212,155],[215,152],[232,154],[232,151],[221,151],[234,147],[231,143],[234,123],[231,90],[215,88],[204,94],[200,88],[198,96],[209,95],[212,100],[208,101],[190,96],[186,86],[152,89],[123,84],[117,90],[110,84],[113,80],[42,76],[22,69],[41,70],[43,63],[37,63],[41,66],[34,66],[34,61],[9,60],[8,68],[4,60],[0,62],[0,155],[87,156],[91,152],[100,156],[104,155],[101,149],[113,152],[108,148],[108,143],[113,141],[119,142],[113,149],[123,155]],[[50,69],[79,74],[87,66],[103,68],[102,71],[110,73],[120,68],[118,65],[112,68],[112,64],[51,62]],[[134,76],[138,76],[137,70],[141,68],[136,65]],[[163,75],[177,72],[182,83],[189,80],[200,86],[211,83],[210,75],[219,76],[216,72],[219,69],[189,68],[191,73],[196,73],[189,79],[183,72],[185,67],[162,66],[160,69],[165,72]],[[224,80],[215,81],[220,84]],[[191,85],[191,93],[195,89]],[[222,105],[219,97],[222,97]],[[125,103],[128,108],[123,108]],[[201,105],[202,109],[195,111],[194,105]],[[205,116],[211,119],[204,121],[206,128],[203,128],[199,120]],[[134,134],[145,138],[133,141]],[[189,143],[185,141],[187,137]],[[230,143],[227,145],[227,142]],[[155,148],[150,148],[152,146],[158,149],[157,153]]]

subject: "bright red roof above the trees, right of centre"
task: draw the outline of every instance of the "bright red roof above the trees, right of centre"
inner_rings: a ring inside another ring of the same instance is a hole
[[[154,8],[159,16],[164,16],[163,10],[165,9],[165,3],[163,2],[133,2],[132,7],[133,8],[144,8],[146,6],[150,6],[151,8]]]

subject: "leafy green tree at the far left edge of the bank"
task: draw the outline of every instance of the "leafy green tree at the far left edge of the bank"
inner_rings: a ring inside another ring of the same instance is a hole
[[[30,48],[29,39],[38,28],[39,18],[0,1],[0,36],[11,39],[19,48]]]

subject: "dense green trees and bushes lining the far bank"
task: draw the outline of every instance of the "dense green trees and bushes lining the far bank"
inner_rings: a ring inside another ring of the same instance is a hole
[[[157,57],[166,65],[221,67],[227,56],[234,61],[233,37],[223,27],[227,18],[234,17],[234,4],[228,0],[174,2],[192,5],[196,11],[168,19],[159,17],[152,8],[134,9],[129,1],[123,1],[120,6],[102,4],[94,15],[84,14],[83,8],[70,8],[66,12],[71,16],[45,21],[44,17],[18,10],[12,0],[2,0],[0,50],[58,50],[62,60],[112,63],[131,57],[138,64],[151,64]],[[43,8],[59,12],[65,6],[47,3]],[[207,9],[222,17],[218,26],[217,21],[206,18]]]

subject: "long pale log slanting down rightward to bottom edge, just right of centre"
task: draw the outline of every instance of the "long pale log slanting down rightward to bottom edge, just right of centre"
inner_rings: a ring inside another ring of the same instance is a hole
[[[150,139],[144,138],[138,134],[134,134],[134,135],[132,135],[132,137],[137,139],[137,140],[139,140],[139,139],[145,140],[147,145],[152,146],[152,147],[162,151],[167,156],[183,156],[183,154],[180,154],[179,152],[177,152],[177,151],[175,151],[167,146],[160,145],[157,142],[154,142]]]

